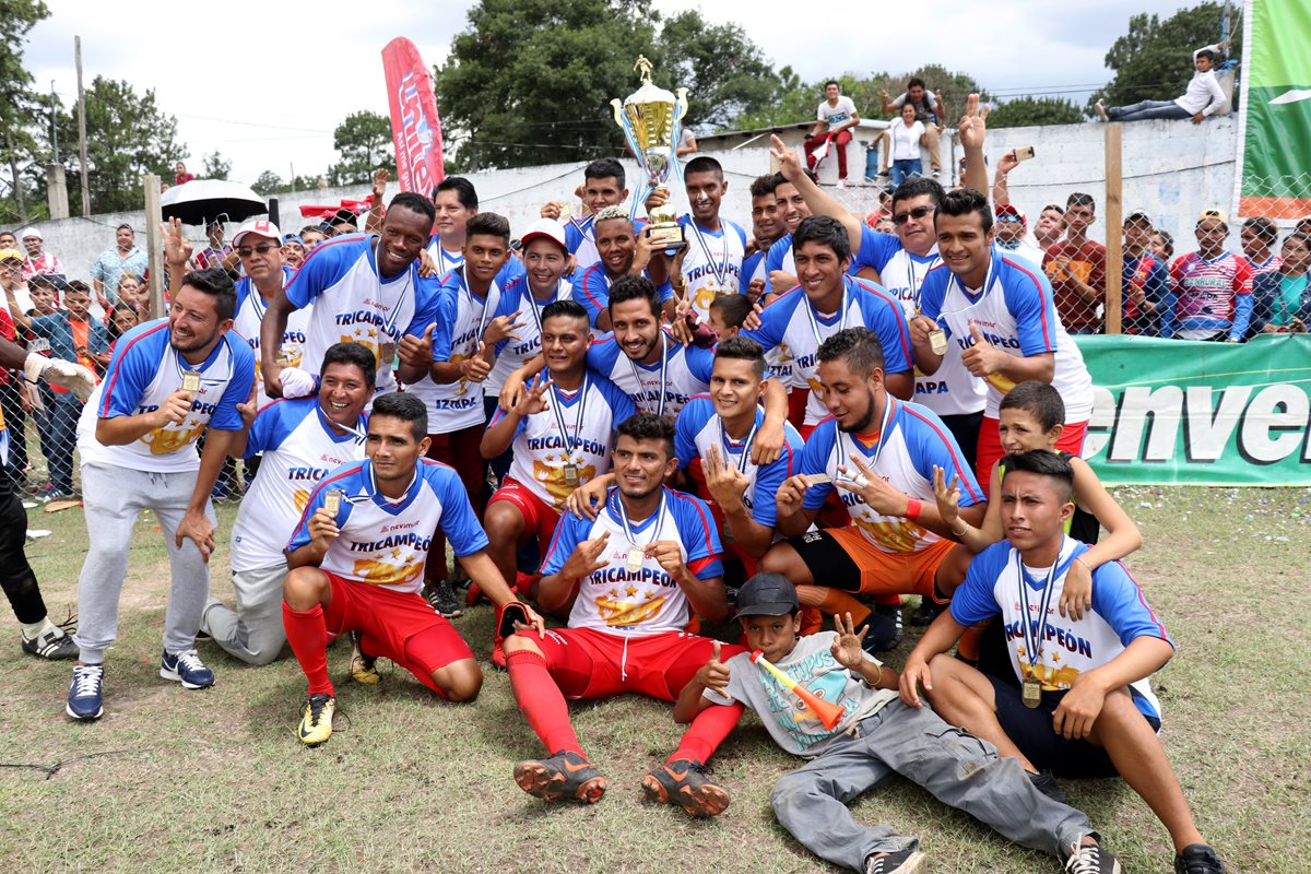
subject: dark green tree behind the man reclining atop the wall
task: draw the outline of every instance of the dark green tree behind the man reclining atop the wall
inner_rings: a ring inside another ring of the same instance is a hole
[[[1172,100],[1188,88],[1193,77],[1193,50],[1219,41],[1221,4],[1203,3],[1180,9],[1164,21],[1141,13],[1129,20],[1129,31],[1106,52],[1106,67],[1116,76],[1088,98],[1088,114],[1103,100],[1108,106],[1137,104],[1141,100]],[[1243,52],[1243,37],[1235,21],[1230,33],[1230,58]],[[988,119],[991,123],[991,119]]]

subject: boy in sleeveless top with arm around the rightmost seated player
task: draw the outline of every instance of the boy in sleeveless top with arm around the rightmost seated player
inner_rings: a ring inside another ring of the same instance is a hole
[[[1093,473],[1088,463],[1076,455],[1068,455],[1057,449],[1061,432],[1065,430],[1065,402],[1061,392],[1049,383],[1028,380],[1011,389],[1000,404],[999,432],[1002,448],[1008,453],[1032,452],[1033,449],[1047,449],[1070,459],[1074,468],[1074,501],[1075,511],[1070,516],[1066,533],[1075,540],[1088,544],[1088,552],[1079,556],[1079,560],[1070,566],[1065,586],[1061,590],[1061,603],[1058,609],[1065,616],[1070,613],[1074,618],[1082,618],[1083,612],[1092,607],[1092,573],[1109,561],[1118,561],[1135,552],[1143,544],[1138,525],[1129,518],[1116,499],[1110,497],[1101,480]],[[988,493],[992,494],[1002,485],[1002,464],[992,465],[991,484]],[[933,472],[933,493],[937,501],[937,511],[943,514],[944,522],[950,527],[952,535],[961,541],[956,546],[939,574],[947,578],[948,584],[954,588],[965,579],[965,571],[970,560],[977,554],[1002,540],[1006,532],[1002,529],[1002,507],[996,502],[988,504],[987,514],[982,524],[975,528],[960,518],[956,503],[960,499],[960,489],[956,478],[947,482],[947,474]],[[1106,527],[1109,536],[1099,542],[1100,527]],[[994,628],[994,624],[988,624]],[[966,633],[957,647],[957,654],[962,658],[983,662],[977,667],[996,668],[1003,672],[1009,664],[1009,655],[1006,654],[1006,642],[1000,634],[1000,626],[995,626],[996,634],[987,634],[983,639],[986,654],[981,655],[981,641],[977,634]]]

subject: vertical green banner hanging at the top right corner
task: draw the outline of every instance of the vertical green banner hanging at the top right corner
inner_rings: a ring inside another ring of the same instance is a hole
[[[1244,16],[1239,215],[1311,207],[1311,4],[1248,0]]]

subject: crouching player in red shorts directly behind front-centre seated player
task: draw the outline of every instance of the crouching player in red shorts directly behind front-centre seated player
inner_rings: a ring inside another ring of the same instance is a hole
[[[590,342],[591,322],[582,304],[548,304],[541,311],[548,372],[511,408],[497,409],[482,435],[484,459],[514,448],[510,473],[485,512],[488,554],[506,580],[517,579],[520,545],[536,537],[544,550],[551,542],[569,493],[610,472],[615,426],[637,413],[617,385],[587,370]],[[530,584],[524,575],[517,588]]]

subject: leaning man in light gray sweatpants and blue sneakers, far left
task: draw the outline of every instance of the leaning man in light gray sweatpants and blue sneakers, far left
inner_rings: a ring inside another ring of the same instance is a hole
[[[123,334],[77,423],[90,549],[77,579],[80,659],[66,713],[104,713],[105,651],[118,636],[118,598],[132,527],[153,510],[168,546],[172,588],[160,676],[184,688],[214,684],[195,654],[214,550],[210,490],[253,406],[254,355],[231,333],[232,280],[222,269],[186,274],[166,318]],[[205,451],[193,443],[208,428]]]

